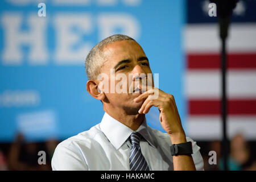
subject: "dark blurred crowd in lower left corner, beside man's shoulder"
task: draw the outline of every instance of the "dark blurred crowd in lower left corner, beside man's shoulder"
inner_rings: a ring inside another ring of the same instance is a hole
[[[52,170],[51,159],[58,143],[54,138],[45,142],[26,142],[19,133],[13,143],[0,143],[0,171]],[[46,164],[39,164],[39,151],[46,152]]]

